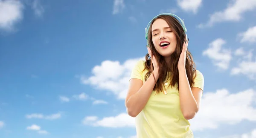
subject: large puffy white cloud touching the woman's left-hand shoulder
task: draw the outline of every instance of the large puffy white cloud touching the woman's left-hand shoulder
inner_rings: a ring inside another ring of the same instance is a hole
[[[125,99],[131,70],[140,59],[144,58],[129,59],[123,64],[119,61],[105,60],[100,66],[93,67],[93,76],[89,78],[82,76],[81,82],[97,89],[111,91],[118,99]]]

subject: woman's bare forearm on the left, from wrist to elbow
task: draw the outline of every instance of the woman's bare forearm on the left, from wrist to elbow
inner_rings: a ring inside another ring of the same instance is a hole
[[[131,95],[131,97],[127,100],[126,108],[129,115],[136,117],[142,111],[150,98],[158,78],[158,73],[154,72],[154,76],[151,74],[139,91],[134,95]]]

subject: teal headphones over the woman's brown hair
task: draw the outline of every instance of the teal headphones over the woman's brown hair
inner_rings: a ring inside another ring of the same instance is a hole
[[[185,35],[186,35],[187,30],[186,30],[186,26],[185,26],[185,23],[184,23],[184,19],[181,20],[180,17],[178,17],[177,15],[172,14],[172,13],[158,14],[158,15],[155,16],[152,20],[150,20],[150,22],[148,23],[147,27],[145,28],[145,38],[146,38],[146,40],[147,40],[147,46],[149,45],[149,42],[148,42],[148,29],[149,29],[149,25],[151,24],[151,22],[152,22],[156,17],[158,17],[158,16],[160,16],[160,15],[169,15],[169,16],[175,17],[175,18],[179,21],[179,23],[180,23],[180,25],[182,26],[182,28],[183,28],[183,30],[184,30],[184,32],[185,32]]]

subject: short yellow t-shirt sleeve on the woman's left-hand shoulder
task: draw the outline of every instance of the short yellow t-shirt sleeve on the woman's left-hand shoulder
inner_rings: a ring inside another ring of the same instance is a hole
[[[132,71],[131,71],[131,76],[130,79],[136,78],[136,79],[140,79],[143,80],[143,68],[144,67],[144,62],[143,60],[139,60],[135,66],[133,67]]]

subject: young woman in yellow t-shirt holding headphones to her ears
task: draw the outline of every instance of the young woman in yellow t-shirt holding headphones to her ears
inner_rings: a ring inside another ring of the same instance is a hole
[[[199,110],[204,77],[187,51],[184,22],[167,13],[148,24],[148,54],[134,66],[125,99],[137,138],[194,138],[188,120]]]

